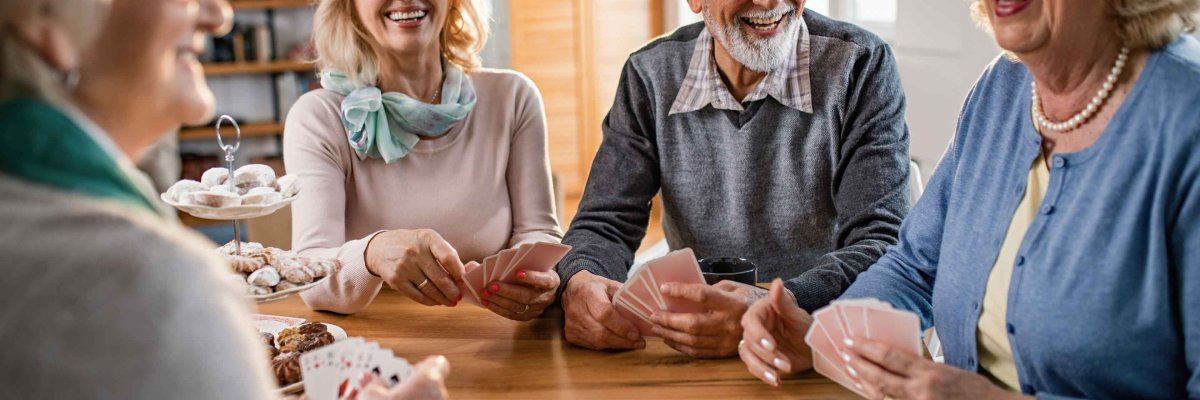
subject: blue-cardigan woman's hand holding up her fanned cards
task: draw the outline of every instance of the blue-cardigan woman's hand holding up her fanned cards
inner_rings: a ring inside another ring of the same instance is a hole
[[[881,342],[854,338],[846,348],[846,372],[858,380],[871,399],[1026,399],[980,375]]]

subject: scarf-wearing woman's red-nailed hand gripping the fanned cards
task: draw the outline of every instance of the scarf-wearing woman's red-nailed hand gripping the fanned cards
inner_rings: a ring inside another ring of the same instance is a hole
[[[480,294],[481,304],[505,318],[529,321],[554,303],[559,282],[557,273],[518,269],[515,275],[520,283],[487,283]]]

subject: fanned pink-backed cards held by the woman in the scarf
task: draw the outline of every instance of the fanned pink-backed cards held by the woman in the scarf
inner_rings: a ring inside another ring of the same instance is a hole
[[[482,306],[484,292],[491,282],[520,283],[518,270],[550,271],[558,264],[571,246],[557,243],[523,244],[516,249],[502,250],[499,253],[484,258],[482,264],[470,263],[458,289],[467,303]]]

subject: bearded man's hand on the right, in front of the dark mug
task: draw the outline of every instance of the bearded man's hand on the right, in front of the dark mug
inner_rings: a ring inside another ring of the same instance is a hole
[[[704,305],[707,312],[655,312],[650,322],[654,333],[680,353],[696,358],[733,357],[742,339],[742,315],[767,291],[734,281],[704,283],[664,283],[664,297],[692,300]]]

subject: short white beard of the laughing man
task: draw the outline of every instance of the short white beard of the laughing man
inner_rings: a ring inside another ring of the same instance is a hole
[[[786,7],[786,6],[784,6]],[[713,28],[713,37],[733,56],[734,60],[745,67],[758,72],[772,72],[784,67],[787,59],[796,56],[792,52],[796,46],[796,35],[800,31],[800,24],[796,20],[800,18],[799,10],[792,16],[785,17],[780,24],[785,30],[772,38],[761,38],[746,32],[742,28],[740,17],[768,17],[788,12],[784,7],[767,13],[755,13],[754,16],[739,16],[733,26],[721,26],[708,12],[708,4],[704,4],[704,25]],[[793,8],[794,10],[794,8]]]

